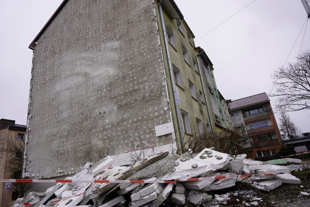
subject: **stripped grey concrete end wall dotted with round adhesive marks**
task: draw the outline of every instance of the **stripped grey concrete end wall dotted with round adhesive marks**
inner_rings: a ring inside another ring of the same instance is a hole
[[[164,83],[152,0],[69,0],[35,48],[26,171],[63,176],[138,140],[171,143],[154,131],[171,122]]]

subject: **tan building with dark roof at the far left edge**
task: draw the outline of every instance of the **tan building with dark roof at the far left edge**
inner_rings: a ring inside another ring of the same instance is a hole
[[[0,119],[0,179],[20,179],[12,175],[21,175],[22,169],[16,172],[9,170],[12,159],[22,159],[23,152],[16,152],[16,146],[24,144],[26,126],[15,124],[14,120]],[[13,145],[13,146],[12,146]],[[14,148],[13,148],[14,147]],[[0,183],[0,206],[11,207],[18,198],[19,192],[6,190],[9,183]]]

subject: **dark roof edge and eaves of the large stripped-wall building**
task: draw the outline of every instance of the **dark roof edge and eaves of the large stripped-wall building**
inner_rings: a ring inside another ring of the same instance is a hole
[[[35,42],[40,38],[40,36],[43,34],[43,32],[45,32],[45,30],[47,29],[47,27],[50,25],[50,23],[52,23],[52,21],[55,19],[55,17],[60,13],[60,11],[62,10],[62,8],[66,5],[66,3],[69,0],[63,0],[62,3],[60,4],[60,6],[56,9],[56,11],[54,12],[54,14],[48,19],[47,23],[44,25],[44,27],[42,28],[42,30],[35,36],[35,38],[32,40],[32,42],[30,43],[29,47],[30,49],[33,49],[35,46]],[[182,15],[179,7],[176,5],[174,0],[163,0],[162,2],[162,6],[166,9],[166,11],[169,12],[169,15],[171,16],[171,18],[178,18],[178,19],[183,19],[184,16]],[[187,25],[187,24],[186,24]],[[190,31],[191,32],[191,31]]]

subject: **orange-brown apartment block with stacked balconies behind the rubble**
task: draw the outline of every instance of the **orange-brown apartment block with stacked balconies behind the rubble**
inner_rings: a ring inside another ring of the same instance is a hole
[[[276,155],[282,140],[266,93],[233,100],[228,104],[233,125],[244,126],[250,137],[250,146],[244,152],[252,158]]]

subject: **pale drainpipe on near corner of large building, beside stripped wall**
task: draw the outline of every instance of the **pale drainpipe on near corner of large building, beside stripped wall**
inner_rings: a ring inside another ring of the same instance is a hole
[[[175,90],[175,82],[174,82],[174,76],[173,76],[173,69],[172,69],[172,64],[170,60],[170,54],[169,54],[169,48],[168,48],[168,38],[167,38],[167,32],[166,32],[166,27],[164,23],[164,17],[163,17],[163,12],[161,9],[161,3],[163,0],[159,1],[158,4],[158,9],[159,9],[159,16],[160,16],[160,21],[161,21],[161,27],[163,30],[163,35],[164,35],[164,41],[165,41],[165,50],[167,54],[167,61],[168,61],[168,66],[169,66],[169,73],[170,73],[170,80],[171,80],[171,87],[173,91],[173,102],[174,102],[174,107],[176,111],[176,119],[178,123],[178,128],[179,128],[179,135],[180,135],[180,140],[181,140],[181,146],[182,146],[182,153],[185,152],[185,143],[184,143],[184,136],[183,136],[183,131],[182,131],[182,125],[181,125],[181,119],[180,119],[180,110],[178,107],[178,103],[176,101],[176,90]]]

